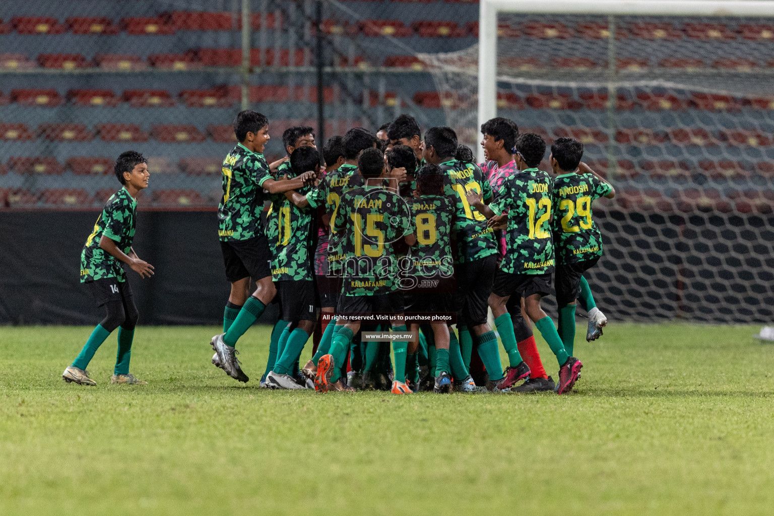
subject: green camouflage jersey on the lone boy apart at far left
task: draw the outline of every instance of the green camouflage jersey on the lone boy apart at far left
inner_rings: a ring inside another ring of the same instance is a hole
[[[105,203],[102,213],[94,223],[94,231],[89,235],[80,253],[80,282],[93,282],[95,279],[115,278],[126,281],[126,272],[121,261],[113,258],[108,251],[99,246],[102,235],[115,241],[116,246],[125,255],[132,251],[137,220],[137,201],[125,188],[114,193]]]

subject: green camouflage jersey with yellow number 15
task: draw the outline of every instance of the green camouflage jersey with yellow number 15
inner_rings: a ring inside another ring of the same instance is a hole
[[[410,231],[409,207],[398,193],[382,186],[358,186],[341,196],[331,234],[344,256],[346,296],[375,296],[398,285],[398,263],[392,242]]]

